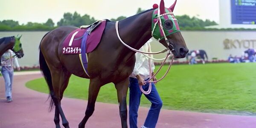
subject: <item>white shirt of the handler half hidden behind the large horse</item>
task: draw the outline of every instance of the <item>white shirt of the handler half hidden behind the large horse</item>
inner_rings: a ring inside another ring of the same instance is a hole
[[[146,44],[144,44],[141,48],[140,48],[140,51],[143,51],[143,52],[151,52],[151,49],[150,48],[150,42],[152,41],[152,39],[149,39],[147,41]],[[145,55],[148,55],[148,54],[145,54]],[[143,79],[148,79],[149,78],[149,62],[148,62],[148,59],[145,55],[143,55],[142,53],[140,52],[136,52],[135,53],[135,57],[136,57],[136,62],[135,62],[135,67],[134,67],[134,70],[133,72],[131,73],[130,77],[133,77],[133,78],[136,78],[137,75],[140,74],[140,76],[143,78]],[[153,57],[151,55],[151,57]],[[154,62],[153,60],[151,60],[151,71],[154,72]]]

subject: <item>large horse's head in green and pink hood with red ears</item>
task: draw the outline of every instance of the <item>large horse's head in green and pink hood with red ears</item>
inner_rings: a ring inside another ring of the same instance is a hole
[[[152,36],[165,47],[168,47],[175,58],[184,58],[189,52],[186,43],[180,33],[177,19],[173,14],[175,3],[165,8],[164,1],[161,0],[160,6],[154,5],[152,17]]]

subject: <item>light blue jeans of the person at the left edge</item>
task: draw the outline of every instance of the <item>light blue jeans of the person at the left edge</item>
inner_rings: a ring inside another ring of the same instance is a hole
[[[6,67],[2,67],[1,73],[6,87],[6,97],[10,96],[12,98],[12,81],[13,81],[13,70],[9,71]]]

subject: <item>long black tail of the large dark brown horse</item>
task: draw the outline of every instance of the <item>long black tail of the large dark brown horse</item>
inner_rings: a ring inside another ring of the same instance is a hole
[[[45,34],[44,37],[47,34]],[[44,39],[44,37],[42,38],[42,40]],[[43,53],[41,51],[42,40],[41,40],[40,45],[39,45],[39,64],[40,64],[40,70],[44,74],[44,79],[47,82],[48,87],[49,87],[49,97],[48,97],[48,99],[49,98],[51,99],[50,106],[49,106],[49,111],[52,111],[52,107],[54,105],[54,102],[53,102],[53,100],[51,98],[51,95],[54,94],[53,87],[52,87],[52,76],[51,76],[51,71],[50,71],[50,69],[49,69],[49,67],[48,67],[48,65],[47,65],[47,63],[45,61],[44,55],[43,55]]]

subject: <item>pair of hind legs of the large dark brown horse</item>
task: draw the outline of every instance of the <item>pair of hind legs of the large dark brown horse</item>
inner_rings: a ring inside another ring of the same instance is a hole
[[[63,97],[64,90],[67,88],[67,84],[71,74],[68,73],[68,71],[66,71],[65,69],[62,69],[62,70],[55,69],[51,73],[52,73],[52,86],[54,90],[54,93],[52,93],[52,100],[55,104],[54,122],[55,122],[56,128],[61,128],[59,124],[60,122],[59,115],[61,115],[62,125],[65,128],[69,128],[69,123],[61,108],[61,99]]]

